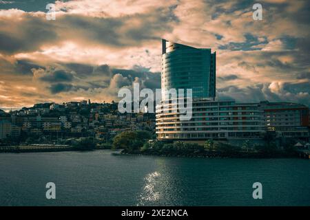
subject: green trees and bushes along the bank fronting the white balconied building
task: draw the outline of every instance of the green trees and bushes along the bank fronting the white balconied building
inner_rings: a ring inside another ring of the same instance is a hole
[[[173,143],[153,140],[147,131],[125,131],[114,137],[113,149],[121,148],[119,154],[158,155],[167,157],[235,157],[235,158],[273,158],[298,157],[292,140],[278,148],[272,135],[264,137],[264,145],[251,145],[245,140],[241,146],[229,142],[207,140],[203,145],[176,141]]]

